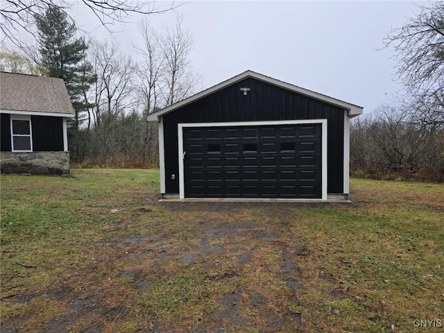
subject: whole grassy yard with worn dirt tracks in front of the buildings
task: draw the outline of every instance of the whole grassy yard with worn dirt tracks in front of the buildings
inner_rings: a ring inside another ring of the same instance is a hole
[[[1,332],[443,332],[444,185],[158,203],[157,170],[0,176]]]

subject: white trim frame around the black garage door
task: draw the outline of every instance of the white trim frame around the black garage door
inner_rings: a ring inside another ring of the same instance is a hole
[[[223,123],[178,123],[178,159],[179,159],[179,198],[185,199],[185,179],[183,163],[183,129],[190,127],[222,127],[222,126],[266,126],[266,125],[298,125],[304,123],[322,124],[322,198],[327,200],[327,119],[306,119],[291,121],[241,121]],[[161,167],[162,168],[162,167]],[[162,170],[162,169],[161,169]]]

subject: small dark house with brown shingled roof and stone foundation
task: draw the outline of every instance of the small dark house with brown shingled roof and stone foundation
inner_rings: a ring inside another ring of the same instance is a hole
[[[2,173],[69,174],[74,109],[61,78],[0,72],[0,116]]]

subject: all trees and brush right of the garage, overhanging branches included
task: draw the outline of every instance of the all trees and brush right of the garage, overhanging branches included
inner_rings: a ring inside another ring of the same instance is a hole
[[[352,120],[353,176],[444,181],[444,1],[418,8],[384,39],[404,90],[398,106]]]

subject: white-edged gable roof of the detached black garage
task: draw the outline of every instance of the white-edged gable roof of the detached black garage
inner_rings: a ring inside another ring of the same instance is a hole
[[[244,73],[241,73],[237,76],[229,78],[228,80],[225,80],[225,81],[219,83],[218,85],[214,85],[213,87],[205,89],[202,92],[199,92],[198,94],[190,96],[187,99],[184,99],[182,101],[174,103],[173,105],[170,105],[167,108],[153,112],[148,115],[147,120],[148,121],[159,121],[160,117],[162,117],[164,114],[167,114],[169,112],[177,110],[178,108],[182,108],[182,106],[185,106],[185,105],[192,103],[194,101],[198,101],[199,99],[203,99],[205,96],[213,94],[214,92],[218,92],[219,90],[221,90],[225,87],[228,87],[229,85],[232,85],[234,83],[237,83],[241,80],[244,80],[246,78],[255,78],[255,79],[261,80],[265,83],[270,83],[271,85],[275,85],[278,87],[282,87],[283,89],[290,90],[291,92],[296,92],[298,94],[309,96],[313,99],[318,99],[320,101],[324,101],[325,103],[339,106],[340,108],[343,108],[344,110],[348,110],[348,115],[350,117],[355,117],[355,116],[358,116],[359,114],[362,114],[362,111],[364,109],[361,106],[351,104],[348,102],[344,102],[344,101],[340,101],[339,99],[334,99],[333,97],[319,94],[318,92],[313,92],[309,89],[298,87],[297,85],[291,85],[290,83],[286,83],[281,80],[276,80],[275,78],[271,78],[269,76],[265,76],[263,74],[256,73],[255,71],[248,70],[248,71],[244,71]]]

